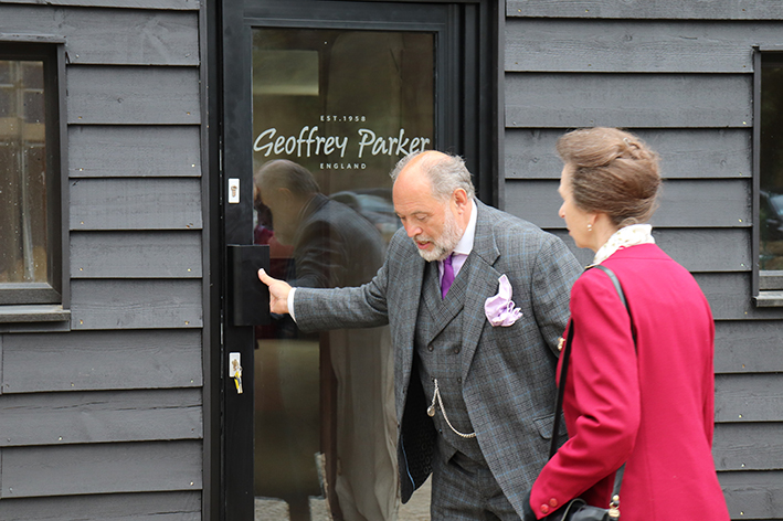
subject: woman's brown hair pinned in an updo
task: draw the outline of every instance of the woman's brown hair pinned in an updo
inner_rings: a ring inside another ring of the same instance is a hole
[[[558,140],[576,206],[609,215],[617,227],[653,216],[660,187],[658,155],[616,128],[574,130]]]

